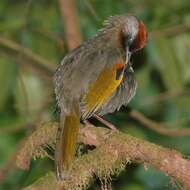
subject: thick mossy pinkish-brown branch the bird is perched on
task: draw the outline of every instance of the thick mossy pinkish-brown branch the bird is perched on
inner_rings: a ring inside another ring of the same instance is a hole
[[[36,149],[54,141],[56,130],[57,124],[50,123],[30,136],[18,156],[17,165],[28,168]],[[25,189],[85,189],[94,175],[101,180],[110,179],[111,175],[118,174],[129,162],[152,165],[173,180],[179,181],[184,189],[190,188],[190,161],[175,150],[118,131],[112,132],[89,125],[82,128],[79,141],[97,148],[76,159],[71,170],[71,179],[58,182],[54,173],[50,172]]]

